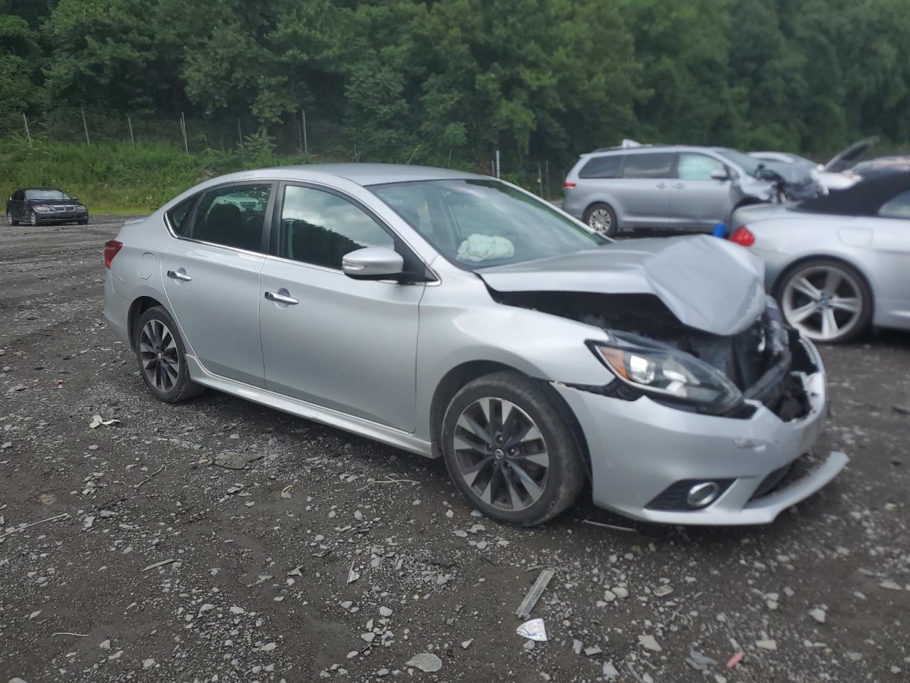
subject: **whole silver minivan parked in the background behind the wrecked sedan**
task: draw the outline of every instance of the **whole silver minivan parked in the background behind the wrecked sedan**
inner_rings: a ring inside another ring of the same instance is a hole
[[[710,231],[733,209],[769,201],[761,160],[730,148],[640,146],[582,154],[562,209],[604,235],[636,228]]]

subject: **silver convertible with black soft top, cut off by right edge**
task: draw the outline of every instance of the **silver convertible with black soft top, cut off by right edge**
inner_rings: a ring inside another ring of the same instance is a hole
[[[910,329],[910,172],[876,174],[793,205],[733,214],[731,240],[762,258],[786,321],[816,342],[870,325]]]

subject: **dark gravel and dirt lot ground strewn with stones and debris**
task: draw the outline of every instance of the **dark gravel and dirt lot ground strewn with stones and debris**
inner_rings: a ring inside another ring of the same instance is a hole
[[[522,530],[439,462],[217,392],[157,403],[102,316],[118,224],[0,229],[0,683],[910,680],[910,335],[824,349],[818,447],[852,461],[773,525],[582,504]]]

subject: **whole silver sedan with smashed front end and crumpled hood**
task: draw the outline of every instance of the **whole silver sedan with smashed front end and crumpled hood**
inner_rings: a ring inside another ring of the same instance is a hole
[[[846,460],[803,457],[822,363],[724,240],[621,245],[494,178],[318,165],[209,180],[105,260],[158,399],[208,387],[441,456],[503,522],[590,481],[640,519],[767,523]]]

